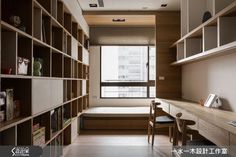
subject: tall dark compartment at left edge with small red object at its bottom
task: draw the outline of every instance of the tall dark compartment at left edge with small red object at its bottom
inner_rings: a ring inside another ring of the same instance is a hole
[[[13,75],[16,75],[17,65],[17,33],[10,32],[2,29],[1,31],[1,73],[4,74],[6,72],[5,69],[12,69]]]

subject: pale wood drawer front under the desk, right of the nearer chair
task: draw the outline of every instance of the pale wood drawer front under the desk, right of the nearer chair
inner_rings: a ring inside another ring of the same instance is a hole
[[[229,146],[229,132],[199,119],[199,133],[218,146]]]

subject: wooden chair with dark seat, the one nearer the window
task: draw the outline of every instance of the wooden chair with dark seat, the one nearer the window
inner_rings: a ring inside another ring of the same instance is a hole
[[[172,130],[175,125],[174,119],[171,116],[158,115],[159,112],[163,112],[162,108],[158,107],[161,103],[152,101],[150,104],[150,114],[148,121],[148,143],[150,143],[150,135],[152,134],[152,146],[154,145],[154,137],[156,129],[169,128],[169,137],[171,141]]]

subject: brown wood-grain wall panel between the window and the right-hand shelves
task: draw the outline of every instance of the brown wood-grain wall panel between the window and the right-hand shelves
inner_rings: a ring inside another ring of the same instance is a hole
[[[156,14],[156,96],[181,97],[181,67],[171,66],[176,53],[170,46],[180,38],[180,14],[178,12]],[[159,80],[163,76],[164,80]]]

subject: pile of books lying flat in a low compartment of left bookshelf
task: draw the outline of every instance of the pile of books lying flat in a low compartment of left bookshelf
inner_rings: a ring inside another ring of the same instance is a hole
[[[45,144],[45,127],[39,124],[33,126],[33,145],[43,147]]]

